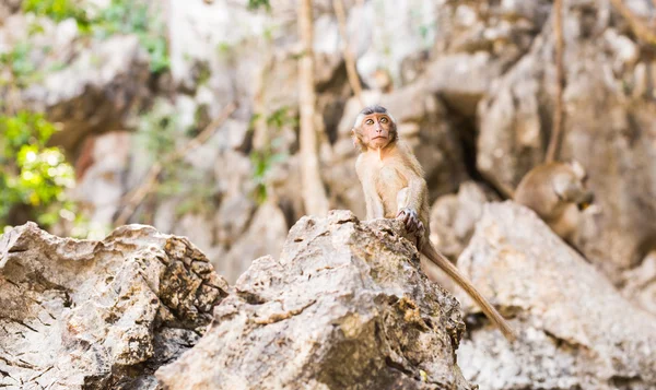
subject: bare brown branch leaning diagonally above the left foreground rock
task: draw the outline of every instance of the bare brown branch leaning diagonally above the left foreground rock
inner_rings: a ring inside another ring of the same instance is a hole
[[[229,104],[227,106],[225,106],[225,108],[223,108],[221,115],[219,115],[216,119],[210,122],[210,125],[208,125],[196,138],[181,145],[180,147],[176,149],[161,161],[155,162],[155,164],[151,166],[150,170],[145,175],[142,185],[124,197],[124,201],[125,199],[127,199],[126,206],[114,221],[114,225],[125,225],[128,222],[128,220],[132,216],[132,214],[134,214],[134,210],[137,210],[139,204],[141,204],[145,197],[154,190],[155,185],[157,184],[157,178],[162,173],[164,165],[172,163],[180,157],[184,157],[191,150],[206,143],[214,133],[216,128],[221,126],[236,108],[237,106],[234,103]]]

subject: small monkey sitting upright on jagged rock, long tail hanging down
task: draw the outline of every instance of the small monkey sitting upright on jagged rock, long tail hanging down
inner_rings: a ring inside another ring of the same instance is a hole
[[[351,134],[353,144],[360,149],[355,170],[364,192],[366,218],[400,220],[422,255],[421,267],[429,279],[435,282],[430,272],[434,263],[471,296],[507,340],[516,340],[514,331],[499,311],[431,244],[427,186],[423,168],[410,146],[399,140],[394,117],[385,107],[367,106],[355,118]]]

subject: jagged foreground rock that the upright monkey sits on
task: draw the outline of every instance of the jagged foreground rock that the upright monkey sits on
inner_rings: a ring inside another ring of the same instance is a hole
[[[472,389],[459,305],[419,271],[396,221],[303,217],[257,259],[164,389]],[[501,338],[501,335],[499,335]]]

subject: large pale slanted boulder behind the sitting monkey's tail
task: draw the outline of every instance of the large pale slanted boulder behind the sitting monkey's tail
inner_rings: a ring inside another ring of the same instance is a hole
[[[484,330],[462,342],[458,364],[481,389],[656,388],[656,318],[532,211],[488,203],[458,267],[520,333],[513,346]]]

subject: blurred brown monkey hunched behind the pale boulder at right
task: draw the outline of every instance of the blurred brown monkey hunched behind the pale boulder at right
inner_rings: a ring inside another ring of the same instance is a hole
[[[572,243],[581,211],[593,202],[585,188],[587,175],[576,161],[538,165],[524,176],[513,199],[534,210],[551,229]]]

